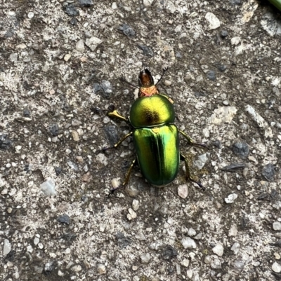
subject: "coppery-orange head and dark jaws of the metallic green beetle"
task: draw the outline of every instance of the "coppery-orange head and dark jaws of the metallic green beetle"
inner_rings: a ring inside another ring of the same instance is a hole
[[[152,75],[148,69],[142,70],[138,76],[138,85],[140,90],[138,92],[138,97],[150,97],[151,95],[159,94]]]

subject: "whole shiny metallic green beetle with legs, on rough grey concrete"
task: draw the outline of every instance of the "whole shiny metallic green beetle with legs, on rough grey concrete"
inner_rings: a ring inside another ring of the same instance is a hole
[[[136,159],[131,163],[122,186],[117,189],[126,186],[131,170],[136,163],[141,168],[143,177],[150,184],[158,187],[166,186],[176,178],[180,160],[185,161],[186,178],[204,189],[202,184],[190,177],[188,160],[179,150],[178,135],[183,135],[190,145],[203,146],[204,148],[206,146],[204,144],[195,144],[188,135],[178,130],[174,125],[174,102],[171,98],[159,93],[156,87],[157,84],[155,85],[148,69],[140,72],[138,84],[140,87],[138,100],[133,102],[129,118],[121,116],[117,110],[108,113],[110,117],[129,123],[133,130],[113,147],[107,149],[116,148],[131,135],[136,149]],[[103,151],[107,149],[103,149]],[[114,193],[115,190],[112,189],[110,194]]]

